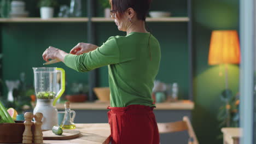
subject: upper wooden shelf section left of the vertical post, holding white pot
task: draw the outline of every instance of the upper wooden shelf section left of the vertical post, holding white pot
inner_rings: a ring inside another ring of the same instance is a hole
[[[40,17],[22,17],[22,18],[9,18],[0,19],[0,23],[10,22],[88,22],[87,17],[54,17],[51,19],[40,19]]]

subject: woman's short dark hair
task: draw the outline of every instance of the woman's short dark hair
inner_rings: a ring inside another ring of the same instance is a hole
[[[152,0],[109,0],[112,10],[116,10],[121,15],[128,8],[132,8],[137,13],[138,20],[146,20],[150,3]]]

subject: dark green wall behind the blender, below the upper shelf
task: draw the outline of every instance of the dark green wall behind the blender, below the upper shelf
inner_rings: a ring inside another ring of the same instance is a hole
[[[33,85],[32,67],[44,67],[42,54],[49,46],[69,52],[86,40],[85,23],[8,23],[2,25],[3,79],[19,79],[26,74],[28,85]],[[78,73],[63,63],[50,67],[66,70],[67,86],[71,82],[88,83],[87,73]],[[67,88],[68,90],[68,88]],[[6,89],[5,89],[6,91]]]

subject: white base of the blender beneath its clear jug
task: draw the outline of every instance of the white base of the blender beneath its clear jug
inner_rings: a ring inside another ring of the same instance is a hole
[[[43,113],[42,130],[51,130],[54,125],[58,125],[58,111],[53,106],[53,100],[37,99],[33,114],[37,112]]]

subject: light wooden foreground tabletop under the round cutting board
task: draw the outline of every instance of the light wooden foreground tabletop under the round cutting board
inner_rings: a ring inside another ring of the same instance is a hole
[[[62,143],[62,144],[108,144],[110,136],[110,127],[108,123],[88,123],[75,124],[76,129],[81,132],[77,139],[72,140],[44,140],[44,143]]]

